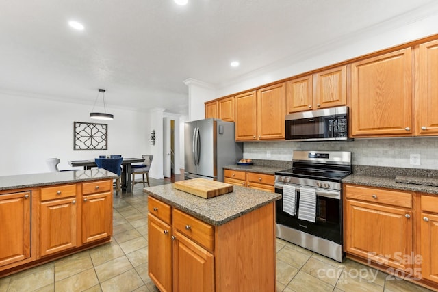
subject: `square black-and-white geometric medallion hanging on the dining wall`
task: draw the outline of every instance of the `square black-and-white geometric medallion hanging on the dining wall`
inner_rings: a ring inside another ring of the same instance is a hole
[[[108,150],[108,125],[74,122],[73,150]]]

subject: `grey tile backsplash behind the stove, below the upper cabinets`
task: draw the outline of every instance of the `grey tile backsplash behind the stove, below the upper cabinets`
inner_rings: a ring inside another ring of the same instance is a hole
[[[292,150],[351,151],[355,165],[438,169],[438,137],[343,142],[245,142],[244,158],[291,161]],[[420,165],[409,164],[411,154],[420,154]]]

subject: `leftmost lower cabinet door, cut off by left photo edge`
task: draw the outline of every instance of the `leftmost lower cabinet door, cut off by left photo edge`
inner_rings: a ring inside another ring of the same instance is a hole
[[[0,267],[30,257],[31,193],[0,196]]]

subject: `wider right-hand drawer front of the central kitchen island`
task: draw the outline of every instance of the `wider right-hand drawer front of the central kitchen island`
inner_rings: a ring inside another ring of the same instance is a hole
[[[214,250],[214,227],[177,209],[173,210],[173,226],[209,250]]]

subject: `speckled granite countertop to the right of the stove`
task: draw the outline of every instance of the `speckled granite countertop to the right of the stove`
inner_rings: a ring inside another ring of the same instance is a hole
[[[342,179],[342,183],[438,195],[436,170],[355,165],[353,174]]]

